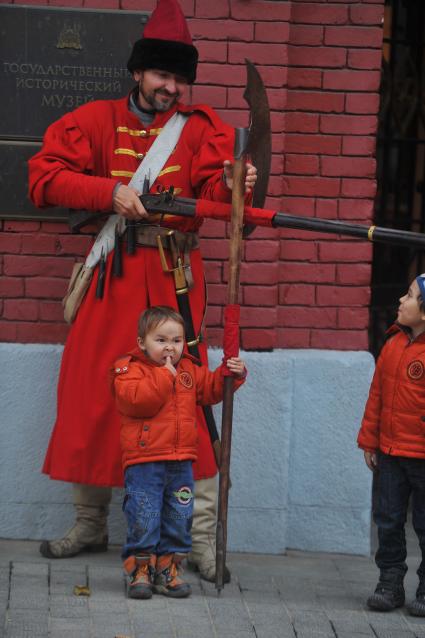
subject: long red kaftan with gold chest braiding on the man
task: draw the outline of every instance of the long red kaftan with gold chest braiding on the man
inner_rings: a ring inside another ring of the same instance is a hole
[[[178,109],[193,113],[155,185],[173,185],[182,197],[230,201],[222,166],[233,156],[234,131],[207,106],[178,105],[159,113],[149,126],[129,112],[127,98],[88,103],[46,131],[44,144],[29,162],[30,196],[40,207],[61,205],[109,211],[117,182],[128,183],[161,127]],[[166,216],[162,225],[196,230],[199,219]],[[91,485],[121,485],[119,418],[108,384],[117,357],[135,345],[137,319],[153,305],[177,308],[173,276],[164,273],[158,251],[123,249],[123,276],[111,276],[107,260],[103,299],[95,297],[97,272],[71,327],[58,383],[57,419],[43,471],[53,479]],[[191,253],[195,285],[190,305],[196,333],[204,309],[204,273],[199,250]],[[206,363],[206,346],[200,344]],[[195,478],[217,471],[208,431],[198,413],[199,456]]]

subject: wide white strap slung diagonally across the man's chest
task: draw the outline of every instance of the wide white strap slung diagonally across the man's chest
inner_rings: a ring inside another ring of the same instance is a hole
[[[161,133],[146,153],[143,162],[139,165],[137,171],[129,182],[129,186],[139,193],[142,192],[145,177],[149,178],[152,185],[158,177],[162,167],[171,155],[174,147],[180,139],[181,132],[188,120],[188,115],[183,113],[174,113],[162,128]],[[96,237],[91,251],[86,257],[85,265],[93,268],[103,257],[111,252],[115,244],[115,229],[119,234],[125,230],[125,217],[122,215],[110,215],[104,224],[102,230]]]

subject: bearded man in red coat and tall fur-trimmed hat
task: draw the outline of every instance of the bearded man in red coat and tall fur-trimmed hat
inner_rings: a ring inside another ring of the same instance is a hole
[[[234,130],[206,105],[185,106],[179,99],[195,80],[198,53],[176,0],[159,0],[128,62],[137,86],[121,100],[90,102],[67,113],[46,131],[41,151],[29,162],[29,190],[39,207],[60,205],[95,213],[114,211],[127,220],[149,219],[150,234],[137,231],[134,254],[123,249],[122,276],[106,258],[102,298],[96,296],[97,270],[73,323],[62,358],[57,420],[43,471],[73,483],[76,523],[65,536],[44,541],[48,558],[107,549],[111,487],[122,485],[119,423],[108,386],[111,363],[134,346],[137,318],[148,306],[177,308],[173,275],[163,270],[158,226],[180,231],[189,248],[193,282],[189,305],[197,337],[205,315],[205,286],[196,231],[199,220],[149,216],[138,193],[128,186],[141,160],[176,113],[188,115],[174,150],[151,185],[174,187],[183,197],[229,202]],[[249,195],[256,169],[247,165]],[[154,239],[154,241],[152,241]],[[183,248],[182,248],[183,250]],[[185,259],[187,254],[185,255]],[[199,343],[203,363],[205,342]],[[199,454],[194,466],[195,513],[192,562],[201,575],[215,578],[216,473],[204,415],[198,413]]]

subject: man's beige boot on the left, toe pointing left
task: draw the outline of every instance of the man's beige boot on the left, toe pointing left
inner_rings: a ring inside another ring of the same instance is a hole
[[[40,553],[45,558],[71,558],[81,552],[106,552],[108,549],[107,517],[112,489],[73,484],[76,520],[63,538],[43,541]]]

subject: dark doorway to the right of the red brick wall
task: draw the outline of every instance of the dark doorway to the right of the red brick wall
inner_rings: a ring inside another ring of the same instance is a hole
[[[425,3],[386,0],[374,224],[425,230]],[[425,253],[374,244],[370,350],[376,356],[398,298],[425,271]]]

